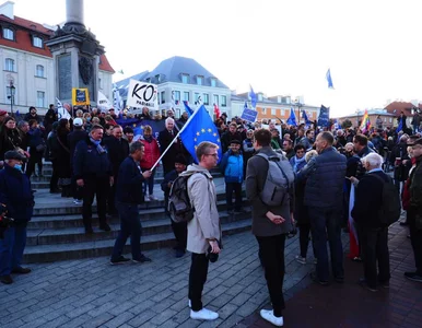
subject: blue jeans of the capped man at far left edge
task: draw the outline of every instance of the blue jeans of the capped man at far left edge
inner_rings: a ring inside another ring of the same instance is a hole
[[[0,276],[9,276],[12,269],[21,267],[26,245],[26,225],[11,226],[0,239]]]

